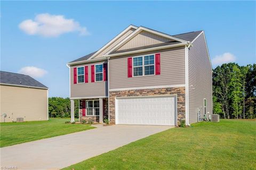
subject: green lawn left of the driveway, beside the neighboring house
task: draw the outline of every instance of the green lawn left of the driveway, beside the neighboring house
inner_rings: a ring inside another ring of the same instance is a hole
[[[70,119],[51,118],[49,121],[0,123],[0,147],[51,138],[93,128],[88,124],[67,124],[65,123],[66,121],[70,121]]]

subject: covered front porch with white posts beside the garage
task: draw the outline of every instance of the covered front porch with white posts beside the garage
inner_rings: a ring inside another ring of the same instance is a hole
[[[75,121],[74,100],[71,102],[71,122]],[[108,119],[108,98],[79,99],[79,121],[103,123]]]

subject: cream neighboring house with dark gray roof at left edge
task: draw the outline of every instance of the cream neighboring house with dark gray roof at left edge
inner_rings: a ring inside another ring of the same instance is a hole
[[[46,86],[29,75],[0,73],[1,122],[16,122],[20,117],[24,121],[48,120]]]

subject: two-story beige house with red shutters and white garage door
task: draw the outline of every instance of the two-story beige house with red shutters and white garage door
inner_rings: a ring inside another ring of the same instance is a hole
[[[177,125],[212,114],[212,67],[204,31],[167,35],[130,25],[97,52],[67,64],[71,121]]]

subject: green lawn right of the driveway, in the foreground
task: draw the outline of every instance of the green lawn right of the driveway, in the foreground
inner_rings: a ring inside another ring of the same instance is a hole
[[[255,135],[255,120],[196,123],[151,135],[65,169],[256,169]]]

